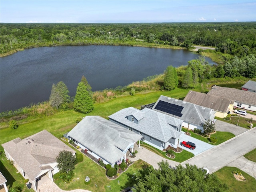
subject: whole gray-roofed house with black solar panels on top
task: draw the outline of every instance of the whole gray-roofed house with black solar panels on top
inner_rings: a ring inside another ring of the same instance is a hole
[[[207,121],[214,121],[215,111],[193,103],[161,95],[156,103],[141,106],[151,108],[157,112],[183,120],[182,126],[194,130],[203,130],[202,125]]]

